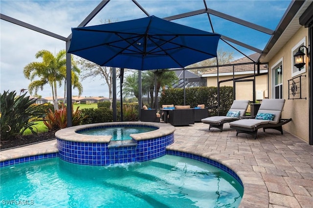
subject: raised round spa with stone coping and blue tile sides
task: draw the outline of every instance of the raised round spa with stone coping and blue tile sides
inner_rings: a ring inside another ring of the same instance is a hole
[[[152,127],[155,130],[130,134],[129,141],[111,141],[112,136],[77,133],[106,127]],[[116,163],[143,162],[166,154],[174,143],[175,127],[152,122],[111,122],[88,124],[62,129],[55,133],[60,158],[64,161],[92,166]],[[120,143],[121,142],[121,143]],[[112,144],[113,143],[113,144]]]

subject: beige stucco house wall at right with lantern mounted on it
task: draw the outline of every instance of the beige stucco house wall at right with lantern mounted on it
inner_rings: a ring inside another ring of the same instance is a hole
[[[293,56],[291,55],[291,49],[299,43],[303,38],[306,38],[306,46],[308,47],[308,28],[301,27],[295,35],[290,38],[290,40],[285,44],[285,46],[269,61],[268,63],[268,77],[269,77],[269,89],[272,89],[271,68],[282,59],[283,63],[283,98],[286,99],[284,110],[282,112],[282,118],[292,118],[292,121],[283,126],[285,131],[288,131],[297,137],[303,139],[309,143],[309,79],[308,79],[308,64],[306,72],[301,75],[306,75],[306,77],[301,77],[301,94],[302,97],[307,97],[307,99],[288,99],[289,86],[288,80],[291,77],[291,67]],[[305,52],[306,53],[306,52]],[[306,60],[308,63],[308,57]],[[299,84],[297,85],[299,88]],[[299,91],[299,89],[298,89]],[[268,90],[269,98],[272,98],[271,90]],[[291,95],[292,97],[292,95]]]

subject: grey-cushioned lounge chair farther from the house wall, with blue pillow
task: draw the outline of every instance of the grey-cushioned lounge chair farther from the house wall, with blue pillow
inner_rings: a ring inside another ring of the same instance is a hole
[[[205,124],[209,124],[211,128],[218,128],[223,131],[224,123],[239,120],[239,116],[246,114],[246,109],[249,105],[249,100],[234,100],[226,116],[211,116],[201,119]],[[239,112],[239,113],[238,113]]]

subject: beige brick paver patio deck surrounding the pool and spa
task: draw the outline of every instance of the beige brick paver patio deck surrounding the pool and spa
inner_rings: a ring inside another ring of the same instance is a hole
[[[239,134],[224,125],[208,130],[196,123],[176,127],[170,150],[216,160],[234,170],[244,183],[245,208],[312,208],[313,146],[284,131],[259,130],[258,138]],[[56,140],[0,152],[0,160],[27,156],[34,151],[57,151]]]

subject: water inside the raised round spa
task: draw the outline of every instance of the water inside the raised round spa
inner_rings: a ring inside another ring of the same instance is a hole
[[[156,128],[151,127],[103,127],[98,129],[89,129],[80,131],[79,133],[87,135],[112,135],[112,140],[130,140],[132,137],[130,134],[151,132],[156,130]]]

